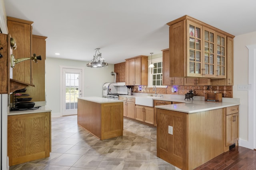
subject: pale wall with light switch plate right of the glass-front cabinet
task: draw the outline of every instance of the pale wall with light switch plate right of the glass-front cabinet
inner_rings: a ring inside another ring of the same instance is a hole
[[[238,91],[238,84],[248,84],[248,49],[246,45],[256,44],[256,31],[234,38],[234,98],[240,98],[239,137],[248,141],[248,92]],[[255,114],[255,113],[254,113]]]

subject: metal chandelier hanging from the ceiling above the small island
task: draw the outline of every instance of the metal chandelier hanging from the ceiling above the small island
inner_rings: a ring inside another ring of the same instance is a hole
[[[88,61],[86,66],[88,67],[104,67],[108,66],[108,63],[101,58],[101,53],[99,51],[99,48],[95,49],[95,55],[93,56],[93,59]],[[98,53],[97,53],[98,52]]]

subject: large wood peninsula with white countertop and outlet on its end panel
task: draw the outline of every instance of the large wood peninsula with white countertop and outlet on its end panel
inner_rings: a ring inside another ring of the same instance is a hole
[[[226,115],[229,110],[238,112],[238,105],[194,100],[155,106],[157,156],[182,170],[192,170],[226,152]],[[238,138],[235,141],[237,145]]]

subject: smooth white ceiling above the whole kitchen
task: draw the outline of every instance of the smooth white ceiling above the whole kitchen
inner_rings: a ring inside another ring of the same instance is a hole
[[[6,15],[34,21],[46,57],[110,64],[168,48],[166,23],[192,16],[232,35],[256,31],[255,0],[4,0]],[[18,41],[18,40],[17,40]],[[55,55],[60,53],[60,55]],[[38,54],[40,55],[40,54]]]

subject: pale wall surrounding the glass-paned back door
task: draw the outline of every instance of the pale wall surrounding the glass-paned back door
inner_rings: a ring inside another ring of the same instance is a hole
[[[84,67],[84,96],[102,97],[102,86],[105,82],[113,82],[114,64],[104,68],[86,67],[84,61],[46,58],[46,106],[52,109],[52,116],[60,116],[60,66]]]

